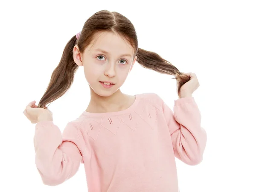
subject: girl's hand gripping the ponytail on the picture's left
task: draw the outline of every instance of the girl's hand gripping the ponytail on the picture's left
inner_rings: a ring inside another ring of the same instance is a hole
[[[38,123],[43,120],[52,121],[52,112],[48,108],[38,108],[35,105],[35,101],[30,102],[25,110],[23,111],[24,115],[32,122],[33,124]]]

